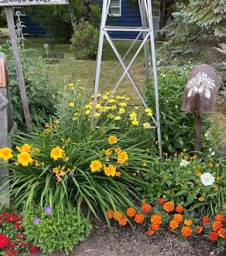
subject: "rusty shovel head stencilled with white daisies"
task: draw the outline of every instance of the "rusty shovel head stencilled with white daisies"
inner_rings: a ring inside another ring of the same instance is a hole
[[[184,87],[182,111],[196,115],[214,114],[219,81],[213,68],[206,64],[196,67]]]

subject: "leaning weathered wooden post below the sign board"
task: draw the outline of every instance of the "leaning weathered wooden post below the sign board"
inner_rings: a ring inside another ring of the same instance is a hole
[[[14,19],[13,19],[13,13],[12,13],[12,6],[5,6],[6,9],[6,18],[8,22],[8,28],[10,32],[10,40],[12,44],[12,51],[13,51],[13,56],[14,56],[14,62],[16,66],[16,74],[18,77],[18,85],[20,88],[20,96],[24,108],[24,117],[25,117],[25,122],[27,125],[28,131],[31,129],[31,116],[30,116],[30,110],[28,106],[28,98],[27,98],[27,93],[26,93],[26,88],[24,84],[24,75],[23,75],[23,70],[22,70],[22,65],[20,61],[20,53],[18,49],[18,43],[17,43],[17,37],[16,37],[16,32],[15,32],[15,25],[14,25]]]

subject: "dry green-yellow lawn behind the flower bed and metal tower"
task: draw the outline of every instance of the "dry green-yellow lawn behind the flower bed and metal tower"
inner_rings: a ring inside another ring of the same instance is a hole
[[[6,37],[0,38],[0,43],[5,44]],[[26,48],[33,48],[35,51],[28,52],[27,56],[32,58],[34,62],[40,63],[38,60],[39,56],[46,53],[46,49],[44,48],[44,44],[48,44],[48,51],[51,53],[52,49],[50,49],[51,44],[55,44],[54,53],[63,53],[64,58],[60,60],[59,64],[50,65],[50,70],[54,74],[56,74],[55,68],[59,67],[59,77],[64,78],[67,77],[68,83],[75,83],[78,79],[81,80],[82,86],[84,86],[87,90],[87,94],[90,96],[93,94],[93,82],[95,78],[95,67],[96,62],[92,60],[87,60],[86,56],[79,55],[75,56],[69,50],[69,44],[63,44],[59,42],[55,42],[50,38],[41,38],[29,37],[26,41]],[[127,52],[133,41],[121,41],[114,40],[114,43],[119,51],[119,53],[124,56]],[[129,64],[130,60],[133,58],[135,52],[139,48],[141,42],[137,42],[131,52],[128,54],[125,59],[125,63]],[[156,44],[156,48],[159,48],[161,44]],[[150,46],[149,46],[150,47]],[[134,65],[131,66],[130,71],[134,76],[135,81],[139,85],[140,88],[143,87],[143,81],[145,80],[145,67],[143,65],[144,62],[144,51],[143,49],[138,54],[135,59]],[[100,76],[100,90],[105,86],[107,80],[110,78],[111,74],[115,71],[115,68],[119,64],[119,60],[117,56],[114,54],[111,46],[106,43],[103,48],[103,58],[101,62],[101,76]],[[42,68],[46,68],[46,62],[44,59],[41,61]],[[117,74],[113,78],[111,84],[106,88],[106,90],[112,90],[114,86],[117,84],[119,78],[123,74],[123,68],[119,68]],[[63,80],[63,79],[62,79]],[[62,81],[63,84],[63,81]],[[128,77],[125,77],[122,83],[119,86],[118,90],[125,90],[125,94],[131,97],[133,103],[137,103],[137,94],[129,80]]]

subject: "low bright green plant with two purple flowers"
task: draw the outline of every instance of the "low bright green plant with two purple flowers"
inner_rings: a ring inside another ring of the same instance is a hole
[[[56,212],[46,212],[48,213],[43,213],[40,206],[32,206],[23,214],[28,241],[40,246],[45,254],[65,250],[65,254],[68,255],[75,244],[84,240],[85,230],[87,235],[91,230],[91,224],[72,206],[68,206],[64,212],[58,212],[57,215]]]

